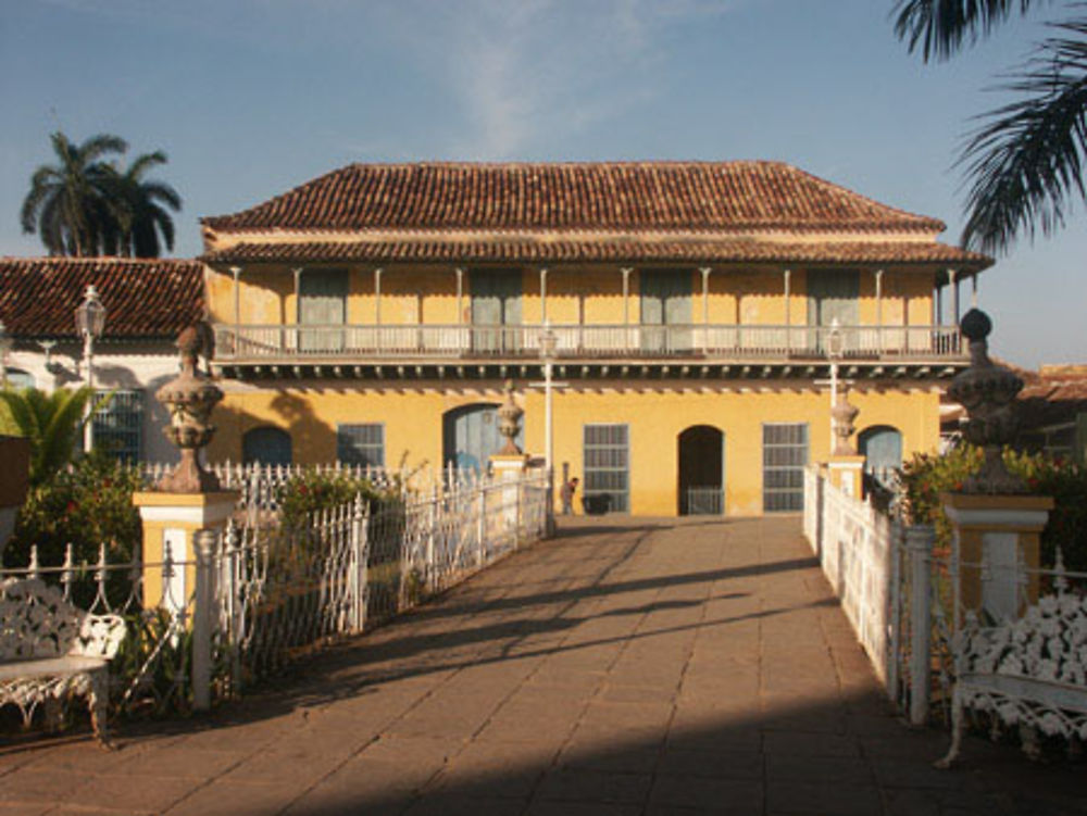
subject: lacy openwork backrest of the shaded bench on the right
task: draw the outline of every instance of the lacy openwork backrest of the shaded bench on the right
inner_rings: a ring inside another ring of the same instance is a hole
[[[960,671],[1087,688],[1087,595],[1044,595],[1017,620],[983,627],[967,613],[955,650]]]

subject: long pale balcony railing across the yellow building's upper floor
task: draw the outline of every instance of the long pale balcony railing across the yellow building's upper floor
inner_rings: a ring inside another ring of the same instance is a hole
[[[555,355],[571,360],[824,359],[832,331],[844,357],[954,360],[957,326],[552,325]],[[532,326],[215,326],[229,362],[380,359],[538,359],[547,329]]]

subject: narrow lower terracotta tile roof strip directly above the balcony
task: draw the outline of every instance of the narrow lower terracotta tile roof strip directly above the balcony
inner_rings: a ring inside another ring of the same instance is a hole
[[[373,262],[373,263],[955,263],[984,268],[985,255],[936,241],[720,241],[625,240],[403,240],[242,242],[209,252],[208,263]]]

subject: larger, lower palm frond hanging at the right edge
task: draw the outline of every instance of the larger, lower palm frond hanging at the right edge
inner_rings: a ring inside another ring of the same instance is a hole
[[[1019,235],[1051,235],[1085,196],[1087,20],[1053,27],[1065,36],[1000,86],[1022,98],[985,114],[958,160],[970,179],[966,247],[1002,252]]]

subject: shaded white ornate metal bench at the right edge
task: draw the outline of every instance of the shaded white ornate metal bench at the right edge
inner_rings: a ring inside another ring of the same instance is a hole
[[[988,712],[994,726],[1020,726],[1036,754],[1037,732],[1087,741],[1087,597],[1046,595],[1017,620],[983,627],[971,612],[954,643],[951,750],[959,757],[964,710]]]

